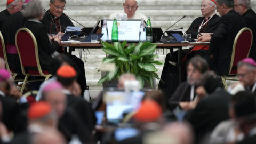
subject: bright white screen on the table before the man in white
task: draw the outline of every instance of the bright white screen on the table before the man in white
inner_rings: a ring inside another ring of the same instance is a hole
[[[108,40],[111,40],[111,31],[114,20],[107,20]],[[117,21],[119,41],[139,41],[140,20]]]

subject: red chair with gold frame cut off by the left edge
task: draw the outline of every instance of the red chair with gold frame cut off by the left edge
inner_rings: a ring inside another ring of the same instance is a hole
[[[12,73],[13,80],[15,80],[15,78],[18,74],[15,73],[15,71],[10,69],[10,67],[9,67],[9,63],[7,61],[7,54],[6,54],[5,44],[4,44],[4,38],[3,38],[3,35],[1,33],[1,31],[0,31],[0,39],[1,39],[1,41],[0,41],[0,57],[2,57],[4,59],[6,69]]]

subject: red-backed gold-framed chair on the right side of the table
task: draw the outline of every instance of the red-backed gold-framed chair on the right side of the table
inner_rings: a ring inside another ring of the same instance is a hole
[[[244,58],[248,57],[251,50],[251,46],[252,46],[252,38],[253,38],[252,30],[247,27],[241,29],[236,35],[236,38],[233,44],[229,74],[227,76],[221,76],[223,85],[226,90],[227,90],[226,80],[238,81],[238,78],[236,77],[237,63],[243,60]]]

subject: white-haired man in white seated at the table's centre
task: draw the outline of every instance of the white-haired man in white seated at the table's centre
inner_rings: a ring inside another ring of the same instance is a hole
[[[125,0],[123,3],[124,12],[114,12],[109,15],[109,19],[114,19],[118,13],[126,13],[127,19],[141,19],[147,20],[147,17],[139,12],[136,12],[138,9],[138,2],[135,0]]]

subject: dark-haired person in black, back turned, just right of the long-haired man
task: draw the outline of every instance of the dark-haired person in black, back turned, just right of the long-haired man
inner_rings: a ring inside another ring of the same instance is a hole
[[[203,85],[206,95],[197,103],[194,109],[187,111],[185,119],[192,125],[196,143],[209,134],[221,121],[229,118],[228,103],[231,95],[222,89],[218,77],[206,77]]]

